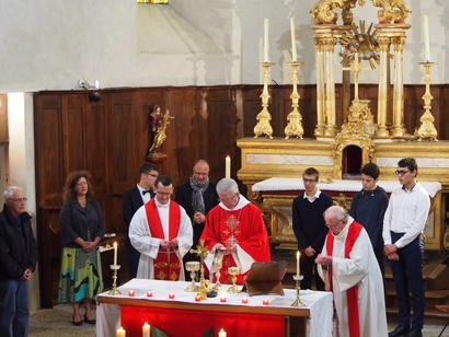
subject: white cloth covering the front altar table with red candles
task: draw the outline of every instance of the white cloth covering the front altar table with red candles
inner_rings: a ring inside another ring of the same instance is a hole
[[[255,295],[247,297],[246,293],[228,294],[219,293],[214,299],[208,299],[202,302],[195,302],[195,292],[186,292],[184,289],[189,282],[184,281],[159,281],[146,279],[133,279],[129,282],[118,287],[120,295],[108,295],[107,292],[102,293],[102,297],[129,299],[127,295],[129,290],[134,290],[135,299],[147,301],[177,301],[186,303],[204,304],[222,304],[220,299],[227,298],[227,305],[246,305],[246,306],[263,306],[262,301],[267,299],[270,307],[289,307],[292,310],[302,310],[291,307],[290,304],[296,299],[296,290],[285,289],[285,295]],[[225,288],[230,286],[225,284]],[[153,297],[147,298],[147,291],[151,290]],[[175,294],[174,300],[169,299],[169,293]],[[241,304],[242,298],[247,297],[249,303]],[[310,310],[309,336],[310,337],[332,337],[333,327],[333,297],[332,292],[327,291],[311,291],[301,290],[301,301],[306,304],[306,309]],[[264,305],[265,306],[265,305]],[[119,326],[120,310],[117,304],[100,303],[96,309],[96,336],[110,337],[115,336],[115,330]]]

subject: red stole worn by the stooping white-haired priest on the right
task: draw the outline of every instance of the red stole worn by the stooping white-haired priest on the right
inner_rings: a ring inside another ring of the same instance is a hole
[[[349,258],[349,254],[353,251],[354,244],[356,243],[358,235],[360,234],[362,225],[356,221],[349,224],[345,241],[345,258]],[[327,256],[332,256],[332,251],[334,248],[334,235],[331,231],[327,233],[326,251]],[[332,264],[329,266],[329,283],[332,291]],[[358,317],[358,286],[354,286],[346,290],[347,300],[347,317],[349,323],[349,336],[360,337],[360,321]]]

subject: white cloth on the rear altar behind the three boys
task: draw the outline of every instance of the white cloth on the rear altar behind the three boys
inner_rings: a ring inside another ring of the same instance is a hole
[[[438,182],[419,182],[425,190],[433,198],[441,189],[441,184]],[[379,181],[378,185],[381,186],[387,193],[393,191],[393,189],[401,188],[401,184],[398,181]],[[336,190],[336,191],[359,191],[361,189],[360,181],[338,181],[335,179],[330,184],[319,183],[321,190]],[[269,178],[258,182],[253,185],[253,191],[269,191],[269,190],[303,190],[304,184],[302,178]]]

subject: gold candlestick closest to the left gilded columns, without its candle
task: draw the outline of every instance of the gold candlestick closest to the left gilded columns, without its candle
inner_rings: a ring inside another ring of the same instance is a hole
[[[284,129],[284,133],[286,135],[285,139],[289,139],[290,137],[297,137],[302,139],[302,135],[304,135],[304,129],[302,128],[302,116],[299,112],[299,93],[298,93],[298,67],[302,66],[302,62],[289,62],[291,67],[291,83],[293,84],[293,90],[290,94],[291,98],[291,107],[293,108],[290,114],[287,116],[288,124]]]

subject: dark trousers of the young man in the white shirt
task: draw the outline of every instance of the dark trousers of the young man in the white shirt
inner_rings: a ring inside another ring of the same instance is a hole
[[[392,243],[402,235],[404,233],[391,232]],[[410,327],[412,323],[412,329],[422,329],[424,324],[423,251],[423,240],[417,236],[410,244],[398,249],[398,262],[390,260],[398,298],[399,325]],[[413,306],[412,321],[410,293]]]

